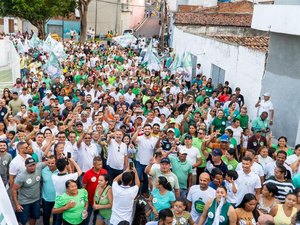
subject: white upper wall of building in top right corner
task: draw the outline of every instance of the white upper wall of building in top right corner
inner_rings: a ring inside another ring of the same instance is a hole
[[[300,6],[255,5],[251,27],[257,30],[300,35]]]

